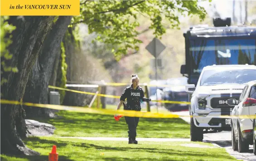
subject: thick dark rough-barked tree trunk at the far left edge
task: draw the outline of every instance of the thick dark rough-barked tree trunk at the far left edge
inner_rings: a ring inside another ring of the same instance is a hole
[[[9,51],[13,58],[8,62],[17,66],[18,73],[3,73],[8,83],[1,86],[2,99],[22,101],[25,87],[36,58],[39,55],[45,35],[53,23],[54,16],[10,17],[9,23],[16,26],[12,32]],[[1,104],[1,153],[39,155],[25,146],[23,109],[19,105]]]

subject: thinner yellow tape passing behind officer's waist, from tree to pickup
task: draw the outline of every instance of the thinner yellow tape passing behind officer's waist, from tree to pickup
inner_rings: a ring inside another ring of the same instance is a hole
[[[52,85],[48,85],[49,88],[52,89],[57,89],[57,90],[67,90],[70,92],[76,92],[76,93],[82,93],[82,94],[87,94],[87,95],[96,95],[96,93],[92,93],[92,92],[84,92],[84,91],[80,91],[80,90],[70,90],[70,89],[66,89],[66,88],[61,88],[61,87],[55,87]],[[97,94],[98,96],[101,97],[109,97],[109,98],[116,98],[116,99],[120,99],[120,96],[118,95],[105,95],[105,94]],[[167,103],[167,104],[190,104],[190,102],[183,102],[183,101],[169,101],[169,100],[151,100],[153,102],[160,102],[160,103]]]

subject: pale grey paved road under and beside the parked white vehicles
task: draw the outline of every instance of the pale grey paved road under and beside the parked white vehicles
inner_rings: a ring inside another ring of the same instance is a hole
[[[179,115],[189,115],[188,111],[184,112],[174,112],[174,114],[179,114]],[[189,117],[181,117],[184,119],[186,122],[190,123],[190,118]],[[239,153],[237,151],[233,151],[232,149],[232,144],[231,144],[231,132],[225,131],[225,132],[220,132],[220,133],[206,133],[203,134],[203,142],[211,142],[214,144],[217,144],[220,147],[226,148],[227,152],[231,155],[234,156],[235,158],[243,161],[256,161],[256,156],[253,154],[253,146],[250,145],[249,152],[245,153]]]

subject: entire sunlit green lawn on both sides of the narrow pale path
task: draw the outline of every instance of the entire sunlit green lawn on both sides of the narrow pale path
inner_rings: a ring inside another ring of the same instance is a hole
[[[125,119],[121,118],[117,122],[112,115],[60,111],[58,118],[35,120],[56,127],[53,136],[127,137],[128,134]],[[189,138],[190,128],[181,118],[140,118],[137,137]],[[128,141],[89,141],[58,137],[29,137],[23,141],[27,147],[40,152],[41,155],[1,155],[1,161],[48,161],[53,145],[57,145],[59,161],[236,160],[225,148],[204,142],[139,142],[135,145],[128,144]],[[185,146],[191,143],[208,147]]]

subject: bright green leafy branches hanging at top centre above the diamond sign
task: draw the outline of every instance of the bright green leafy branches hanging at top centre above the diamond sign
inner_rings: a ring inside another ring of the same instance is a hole
[[[99,35],[97,41],[118,46],[111,50],[116,56],[126,54],[129,48],[139,50],[139,14],[149,17],[157,38],[166,32],[163,20],[170,28],[179,28],[180,15],[198,15],[201,20],[206,16],[197,0],[85,0],[80,4],[80,16],[72,18],[71,26],[87,24],[89,33]]]

